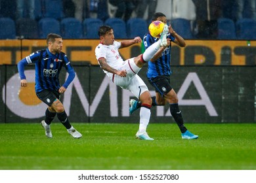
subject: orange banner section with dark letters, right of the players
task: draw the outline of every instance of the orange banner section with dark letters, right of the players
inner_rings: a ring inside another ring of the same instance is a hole
[[[256,41],[186,41],[180,65],[256,65],[255,56]]]

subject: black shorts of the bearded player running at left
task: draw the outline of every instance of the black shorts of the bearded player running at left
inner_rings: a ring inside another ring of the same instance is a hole
[[[43,101],[44,103],[46,103],[49,107],[51,107],[51,105],[53,104],[53,102],[56,99],[60,100],[60,93],[59,92],[52,92],[49,90],[43,90],[42,92],[38,92],[36,93],[37,97]]]

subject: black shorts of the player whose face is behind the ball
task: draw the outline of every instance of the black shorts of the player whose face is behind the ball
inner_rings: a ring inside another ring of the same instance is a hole
[[[166,95],[171,91],[170,76],[157,76],[155,78],[148,78],[148,82],[155,88],[156,92],[161,96]]]

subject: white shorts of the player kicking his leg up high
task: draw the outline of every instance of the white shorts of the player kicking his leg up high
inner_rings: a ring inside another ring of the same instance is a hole
[[[137,75],[140,69],[141,68],[135,64],[134,58],[127,59],[123,62],[123,65],[118,68],[118,70],[126,70],[126,77],[112,75],[112,81],[117,86],[129,90],[139,99],[141,93],[148,91],[148,87],[144,81]]]

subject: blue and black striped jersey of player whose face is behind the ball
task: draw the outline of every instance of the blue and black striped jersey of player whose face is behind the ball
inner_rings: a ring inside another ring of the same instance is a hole
[[[175,40],[173,35],[168,35],[167,38],[171,39],[171,41]],[[145,49],[156,41],[158,41],[157,38],[154,38],[149,33],[147,33],[143,38]],[[161,57],[156,61],[148,61],[148,72],[146,76],[148,78],[154,78],[161,75],[171,75],[171,45],[165,48],[161,54]]]

